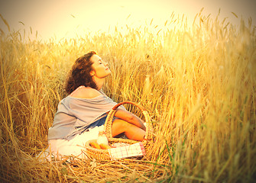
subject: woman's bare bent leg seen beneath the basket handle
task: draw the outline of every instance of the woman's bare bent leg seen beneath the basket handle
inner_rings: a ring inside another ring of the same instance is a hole
[[[142,141],[146,132],[125,120],[115,119],[112,124],[112,136],[117,136],[120,133],[125,133],[128,139]]]

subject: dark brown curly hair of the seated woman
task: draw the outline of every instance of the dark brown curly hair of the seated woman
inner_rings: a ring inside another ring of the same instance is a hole
[[[93,70],[91,57],[96,54],[95,51],[91,51],[76,59],[66,80],[65,90],[68,94],[71,94],[80,85],[97,89],[96,82],[93,81],[92,75],[90,75]]]

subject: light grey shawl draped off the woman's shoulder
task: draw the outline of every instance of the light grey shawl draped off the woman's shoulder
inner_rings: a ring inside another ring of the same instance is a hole
[[[101,92],[101,91],[100,91]],[[83,133],[92,127],[91,124],[105,117],[115,104],[103,92],[96,98],[73,98],[67,96],[58,104],[54,116],[53,126],[48,130],[48,140],[71,140],[77,134]],[[125,108],[120,106],[123,110]]]

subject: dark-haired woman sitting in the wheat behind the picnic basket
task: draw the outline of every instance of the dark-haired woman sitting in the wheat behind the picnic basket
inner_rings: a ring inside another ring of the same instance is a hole
[[[69,94],[58,105],[53,126],[48,133],[51,152],[79,156],[88,140],[103,130],[108,112],[115,102],[102,92],[105,78],[111,74],[108,63],[92,51],[76,59],[66,82]],[[144,140],[143,120],[118,108],[112,124],[112,136],[125,133],[131,140]]]

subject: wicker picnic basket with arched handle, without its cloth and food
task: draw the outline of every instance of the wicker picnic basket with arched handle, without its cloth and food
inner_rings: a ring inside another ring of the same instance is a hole
[[[112,136],[112,120],[113,120],[113,117],[115,115],[116,110],[122,104],[133,104],[136,107],[138,107],[141,110],[141,112],[144,114],[145,123],[146,123],[146,133],[145,133],[145,137],[144,137],[145,140],[142,143],[143,143],[144,149],[147,153],[149,142],[153,139],[151,118],[149,117],[149,114],[147,113],[147,111],[140,104],[136,104],[132,101],[124,101],[124,102],[121,102],[119,104],[116,104],[114,106],[114,108],[112,108],[112,110],[109,111],[109,114],[108,114],[108,116],[105,120],[105,127],[104,127],[106,136],[109,139],[109,144],[112,144],[112,143],[128,143],[128,144],[131,145],[131,144],[134,144],[134,143],[138,143],[138,141],[136,141],[136,140],[113,138],[113,136]],[[96,149],[96,148],[89,145],[89,143],[96,142],[96,141],[97,140],[89,140],[89,141],[86,142],[86,156],[88,156],[90,159],[98,159],[98,160],[109,160],[109,159],[111,159],[108,149]]]

